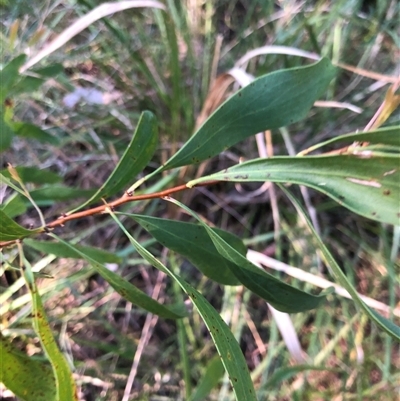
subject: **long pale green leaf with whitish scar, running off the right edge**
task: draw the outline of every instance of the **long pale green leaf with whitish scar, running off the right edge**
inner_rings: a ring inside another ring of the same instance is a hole
[[[394,225],[400,221],[400,167],[395,154],[255,159],[187,185],[211,180],[306,185],[354,213]]]

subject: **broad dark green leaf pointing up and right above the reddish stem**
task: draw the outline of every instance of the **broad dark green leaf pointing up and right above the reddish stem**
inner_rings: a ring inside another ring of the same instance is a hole
[[[322,59],[254,80],[221,105],[162,170],[199,163],[257,132],[305,118],[334,73]]]

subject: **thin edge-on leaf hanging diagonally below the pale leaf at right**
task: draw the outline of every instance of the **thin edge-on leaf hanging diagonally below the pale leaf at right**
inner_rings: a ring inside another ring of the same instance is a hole
[[[340,266],[336,263],[336,260],[329,252],[328,248],[325,246],[324,242],[315,231],[310,219],[307,217],[306,212],[304,211],[303,207],[297,201],[297,199],[282,185],[280,185],[282,191],[289,197],[290,201],[296,207],[297,212],[302,216],[302,218],[307,223],[312,235],[316,239],[319,249],[322,253],[322,256],[325,259],[325,263],[331,268],[331,272],[335,277],[336,281],[345,288],[348,293],[350,294],[353,301],[379,326],[381,327],[386,333],[391,335],[397,341],[400,342],[400,327],[394,324],[391,320],[386,319],[382,315],[380,315],[375,310],[371,309],[365,302],[360,298],[356,289],[352,286],[350,281],[347,279],[346,275],[344,274],[343,270]]]

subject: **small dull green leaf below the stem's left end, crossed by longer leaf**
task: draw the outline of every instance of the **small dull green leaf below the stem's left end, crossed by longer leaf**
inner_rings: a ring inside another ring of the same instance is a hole
[[[91,246],[74,245],[76,250],[73,250],[69,246],[60,242],[36,241],[31,238],[24,240],[24,244],[36,249],[37,251],[52,254],[61,258],[82,259],[82,256],[76,252],[76,250],[78,250],[99,263],[122,262],[122,259],[119,256]]]

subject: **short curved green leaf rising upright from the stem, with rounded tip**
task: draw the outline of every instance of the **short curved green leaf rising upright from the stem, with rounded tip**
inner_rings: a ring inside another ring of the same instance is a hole
[[[108,198],[116,194],[133,182],[153,156],[157,141],[156,118],[149,111],[145,111],[139,119],[130,144],[108,180],[87,202],[76,208],[74,212],[101,198]]]

